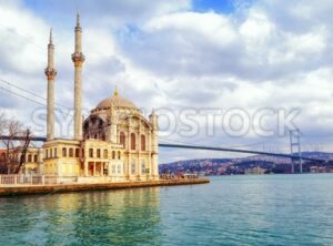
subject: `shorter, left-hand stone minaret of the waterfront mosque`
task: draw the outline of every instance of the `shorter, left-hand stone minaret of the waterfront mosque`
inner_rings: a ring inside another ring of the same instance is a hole
[[[48,44],[48,66],[46,68],[48,78],[48,117],[47,117],[47,140],[54,139],[54,45],[52,41],[52,29],[50,30],[50,41]]]

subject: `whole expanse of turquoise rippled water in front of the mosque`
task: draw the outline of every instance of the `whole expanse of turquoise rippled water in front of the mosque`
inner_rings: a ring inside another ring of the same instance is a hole
[[[0,245],[333,245],[333,175],[0,198]]]

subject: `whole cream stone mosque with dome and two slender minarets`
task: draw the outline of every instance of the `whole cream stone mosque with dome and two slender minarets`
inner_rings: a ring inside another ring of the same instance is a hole
[[[87,119],[82,119],[82,28],[77,16],[74,64],[74,134],[72,140],[54,139],[54,45],[48,44],[47,142],[41,150],[29,150],[27,163],[38,163],[39,173],[78,177],[81,182],[159,180],[158,116],[145,119],[131,101],[115,89]],[[37,153],[38,152],[38,153]],[[42,157],[41,154],[42,153]],[[99,177],[99,178],[98,178]]]

